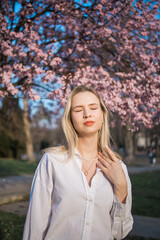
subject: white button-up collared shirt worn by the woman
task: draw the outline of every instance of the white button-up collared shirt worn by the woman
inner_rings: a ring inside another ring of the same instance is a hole
[[[120,203],[113,186],[100,169],[91,187],[82,172],[78,152],[45,153],[35,172],[23,240],[113,240],[132,229],[131,183],[126,203]]]

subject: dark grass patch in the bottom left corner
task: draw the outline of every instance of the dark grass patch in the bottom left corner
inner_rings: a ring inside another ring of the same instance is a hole
[[[0,239],[22,240],[25,217],[0,211]]]

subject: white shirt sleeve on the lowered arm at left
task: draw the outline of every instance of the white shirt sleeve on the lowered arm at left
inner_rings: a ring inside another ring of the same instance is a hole
[[[53,194],[53,165],[45,153],[35,172],[23,240],[42,240],[49,226]]]

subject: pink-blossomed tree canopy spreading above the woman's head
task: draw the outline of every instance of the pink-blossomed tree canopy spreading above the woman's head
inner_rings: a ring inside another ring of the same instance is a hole
[[[152,128],[160,122],[159,11],[153,0],[2,1],[0,96],[63,105],[88,84],[122,125]]]

